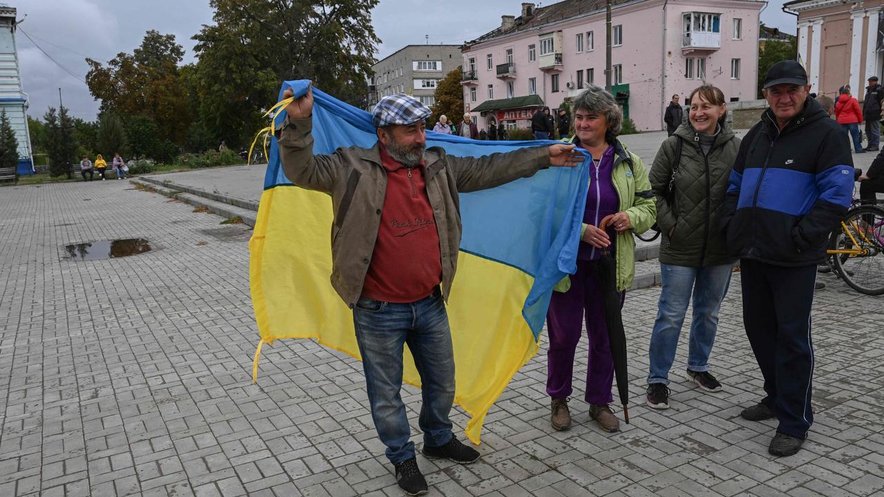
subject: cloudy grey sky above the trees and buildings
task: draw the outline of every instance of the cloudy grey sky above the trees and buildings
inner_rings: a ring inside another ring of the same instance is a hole
[[[42,117],[58,104],[62,88],[65,107],[72,115],[92,120],[98,103],[83,79],[85,57],[107,61],[118,52],[141,44],[144,32],[156,29],[174,34],[193,61],[191,36],[212,23],[209,0],[0,0],[19,10],[17,44],[31,116]],[[544,2],[551,4],[554,2]],[[783,0],[767,4],[761,20],[795,33],[795,17],[781,11]],[[372,12],[375,32],[383,41],[377,58],[410,43],[462,43],[500,23],[502,14],[518,15],[521,0],[381,0]],[[26,17],[27,15],[27,17]],[[29,40],[29,35],[34,42]],[[42,49],[42,50],[41,50]],[[45,53],[44,53],[45,51]],[[54,61],[53,61],[54,59]]]

